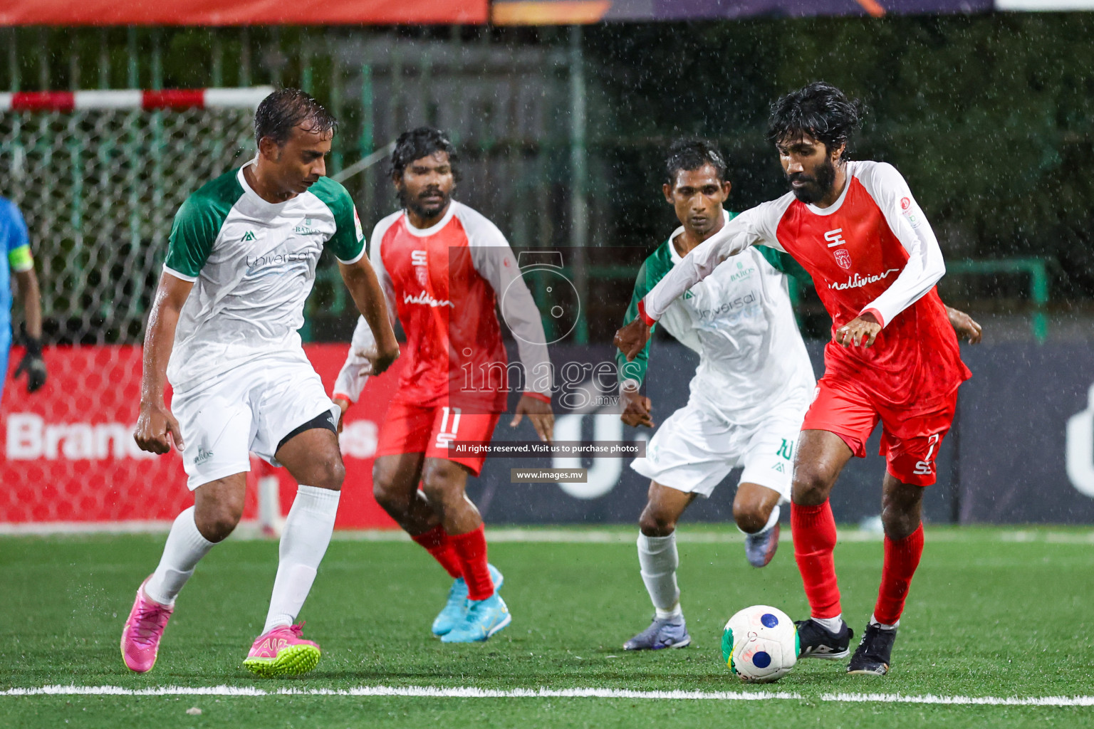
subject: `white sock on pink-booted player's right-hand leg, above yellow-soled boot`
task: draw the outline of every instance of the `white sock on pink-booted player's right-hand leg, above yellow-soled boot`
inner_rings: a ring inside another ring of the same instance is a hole
[[[339,495],[338,491],[316,486],[296,490],[296,498],[281,531],[277,578],[263,633],[278,625],[292,625],[304,607],[319,562],[330,543]]]

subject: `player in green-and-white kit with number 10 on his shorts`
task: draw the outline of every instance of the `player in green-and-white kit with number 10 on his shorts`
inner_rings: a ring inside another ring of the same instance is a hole
[[[627,320],[638,302],[687,252],[732,219],[725,163],[703,140],[678,140],[666,162],[665,199],[683,224],[645,259]],[[724,261],[702,284],[675,299],[660,319],[670,334],[699,353],[690,396],[661,424],[645,458],[631,468],[649,478],[639,519],[642,580],[656,611],[628,650],[683,648],[691,638],[676,584],[676,522],[698,495],[710,496],[734,468],[744,468],[733,517],[745,532],[748,562],[763,567],[779,542],[779,504],[790,498],[793,451],[816,380],[794,321],[785,272],[808,279],[783,254],[750,248]],[[651,402],[639,387],[647,348],[627,362],[619,353],[622,420],[653,427]]]

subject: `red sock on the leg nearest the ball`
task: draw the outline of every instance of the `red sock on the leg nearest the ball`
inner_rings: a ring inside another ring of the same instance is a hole
[[[821,506],[790,505],[790,531],[794,539],[794,560],[805,584],[810,600],[811,618],[835,618],[842,612],[839,607],[839,587],[836,585],[836,518],[831,504]]]

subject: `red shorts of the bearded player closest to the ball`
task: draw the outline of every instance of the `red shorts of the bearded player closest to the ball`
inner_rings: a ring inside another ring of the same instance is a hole
[[[957,388],[927,410],[894,409],[874,402],[845,381],[822,377],[817,395],[805,413],[803,431],[828,431],[843,439],[858,458],[866,455],[866,440],[882,423],[881,455],[889,475],[904,483],[929,486],[936,480],[934,459],[950,432],[957,408]]]

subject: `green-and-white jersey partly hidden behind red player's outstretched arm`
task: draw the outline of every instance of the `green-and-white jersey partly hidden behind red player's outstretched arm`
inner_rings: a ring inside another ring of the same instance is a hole
[[[726,221],[732,217],[726,213]],[[676,228],[645,259],[626,322],[638,316],[638,303],[680,261],[673,239],[682,233],[683,227]],[[654,326],[663,326],[699,353],[689,404],[724,422],[746,425],[784,402],[801,401],[803,409],[810,403],[816,379],[794,320],[788,273],[808,281],[788,255],[750,246],[665,309]],[[620,384],[644,379],[650,344],[633,362],[617,353]]]

